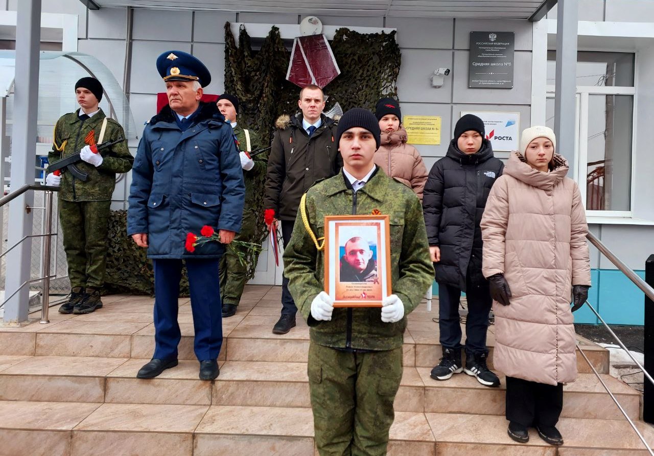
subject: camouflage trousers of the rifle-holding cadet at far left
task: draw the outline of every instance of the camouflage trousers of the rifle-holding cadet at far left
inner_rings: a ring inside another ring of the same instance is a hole
[[[100,289],[105,284],[111,201],[58,203],[71,287]]]

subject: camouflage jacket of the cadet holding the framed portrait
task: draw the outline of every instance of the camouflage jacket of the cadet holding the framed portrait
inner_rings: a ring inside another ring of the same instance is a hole
[[[284,274],[313,342],[333,348],[392,350],[402,346],[409,314],[434,280],[422,208],[409,187],[377,171],[354,196],[342,172],[307,191],[306,214],[317,238],[324,236],[324,217],[381,211],[390,216],[390,277],[392,293],[404,303],[405,318],[383,323],[381,310],[335,308],[330,321],[311,316],[311,302],[324,289],[324,257],[318,252],[298,210],[293,236],[284,250]]]

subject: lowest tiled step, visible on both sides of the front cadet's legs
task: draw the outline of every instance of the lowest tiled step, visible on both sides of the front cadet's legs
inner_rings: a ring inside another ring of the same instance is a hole
[[[608,456],[645,454],[624,420],[562,418],[566,444],[534,430],[528,444],[506,434],[504,417],[396,412],[388,455]],[[645,439],[654,431],[642,423]],[[309,408],[0,401],[3,455],[222,456],[315,453]]]

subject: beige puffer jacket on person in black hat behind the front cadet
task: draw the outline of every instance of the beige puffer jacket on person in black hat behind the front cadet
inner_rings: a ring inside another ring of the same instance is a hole
[[[422,201],[422,189],[427,182],[427,169],[418,150],[407,144],[407,132],[400,128],[393,133],[381,133],[381,145],[375,152],[375,165],[388,176],[413,189]]]

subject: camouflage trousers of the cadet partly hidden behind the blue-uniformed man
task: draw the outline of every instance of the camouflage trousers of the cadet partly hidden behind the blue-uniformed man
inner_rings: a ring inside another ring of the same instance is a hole
[[[234,236],[234,240],[242,240],[243,242],[252,242],[254,236],[254,228],[256,223],[256,216],[254,212],[245,208],[243,210],[243,222],[241,223],[241,233]],[[239,249],[238,247],[236,248]],[[245,255],[245,252],[243,252]],[[245,287],[248,265],[247,263],[241,264],[236,253],[232,252],[231,248],[225,250],[224,255],[220,258],[220,301],[223,304],[239,305],[241,295],[243,295],[243,288]]]

